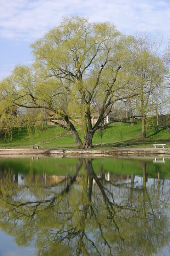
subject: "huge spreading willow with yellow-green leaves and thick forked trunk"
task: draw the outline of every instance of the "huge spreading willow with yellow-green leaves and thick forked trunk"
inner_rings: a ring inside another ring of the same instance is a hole
[[[79,148],[91,148],[94,133],[114,103],[134,95],[128,88],[124,66],[131,41],[112,23],[89,23],[78,16],[64,18],[60,26],[31,45],[33,65],[16,66],[2,81],[1,111],[5,102],[45,108],[46,118],[53,117],[53,123],[71,131]],[[91,121],[93,113],[97,115],[95,124]]]

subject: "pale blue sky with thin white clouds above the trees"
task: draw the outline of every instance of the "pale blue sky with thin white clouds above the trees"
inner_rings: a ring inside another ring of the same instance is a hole
[[[170,36],[170,0],[0,0],[0,81],[15,65],[31,64],[30,44],[74,15],[112,22],[125,34]]]

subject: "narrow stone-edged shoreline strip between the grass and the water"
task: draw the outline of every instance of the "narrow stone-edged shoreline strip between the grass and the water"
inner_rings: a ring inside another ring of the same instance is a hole
[[[152,157],[170,157],[170,149],[168,148],[113,148],[105,150],[95,149],[0,149],[0,157],[3,156],[29,156],[35,155],[53,156],[53,157],[68,157],[68,158],[101,158],[101,157],[137,157],[137,156],[152,156]]]

